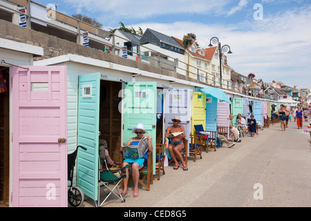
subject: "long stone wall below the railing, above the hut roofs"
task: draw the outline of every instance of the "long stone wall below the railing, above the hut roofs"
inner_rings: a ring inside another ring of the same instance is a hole
[[[81,55],[84,57],[100,59],[115,64],[121,64],[124,66],[149,71],[151,73],[167,75],[171,77],[176,77],[178,79],[185,79],[188,81],[193,81],[202,84],[201,81],[188,78],[185,75],[180,75],[170,70],[165,70],[164,68],[151,66],[149,64],[145,64],[144,62],[137,62],[130,59],[124,59],[122,57],[118,57],[117,55],[105,53],[102,52],[101,50],[96,50],[94,48],[88,48],[72,41],[67,41],[65,39],[60,39],[58,37],[47,35],[42,32],[37,32],[35,30],[23,28],[8,21],[0,20],[0,30],[1,30],[0,38],[9,39],[12,41],[17,41],[24,44],[30,44],[32,46],[39,46],[41,48],[44,48],[44,55],[34,57],[34,61],[48,59],[51,57],[57,57],[60,55],[68,55],[68,54]]]

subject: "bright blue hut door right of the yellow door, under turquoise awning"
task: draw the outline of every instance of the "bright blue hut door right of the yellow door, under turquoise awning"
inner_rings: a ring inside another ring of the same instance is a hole
[[[217,98],[206,97],[206,131],[217,131]]]

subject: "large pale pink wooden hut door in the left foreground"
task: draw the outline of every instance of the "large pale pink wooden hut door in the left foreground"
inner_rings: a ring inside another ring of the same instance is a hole
[[[68,206],[66,66],[12,67],[12,206]]]

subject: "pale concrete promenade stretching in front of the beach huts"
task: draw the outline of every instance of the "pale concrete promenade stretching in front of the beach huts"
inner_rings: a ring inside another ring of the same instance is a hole
[[[297,129],[292,121],[286,131],[270,125],[233,148],[211,148],[196,162],[188,158],[189,171],[168,166],[160,180],[155,176],[150,191],[140,186],[140,196],[133,198],[131,183],[126,202],[111,195],[103,207],[311,206],[310,135],[301,134],[311,131],[310,123]],[[83,206],[95,206],[92,201],[88,198]]]

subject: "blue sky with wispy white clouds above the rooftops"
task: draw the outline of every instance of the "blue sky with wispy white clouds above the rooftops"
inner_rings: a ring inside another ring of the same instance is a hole
[[[234,52],[227,59],[237,73],[311,88],[310,0],[35,1],[54,3],[66,15],[95,18],[104,30],[118,28],[122,21],[127,27],[151,28],[179,39],[193,32],[204,48],[216,36]]]

